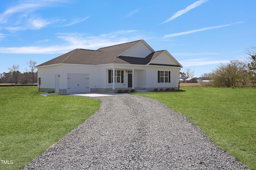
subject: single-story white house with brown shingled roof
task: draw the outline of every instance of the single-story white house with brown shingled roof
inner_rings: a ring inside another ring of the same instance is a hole
[[[39,91],[76,93],[177,90],[182,65],[168,51],[154,51],[138,40],[98,50],[74,49],[36,68]]]

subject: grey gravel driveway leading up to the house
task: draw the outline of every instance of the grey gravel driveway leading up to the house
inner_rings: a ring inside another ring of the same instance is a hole
[[[100,109],[24,170],[245,170],[186,117],[134,95],[96,97]]]

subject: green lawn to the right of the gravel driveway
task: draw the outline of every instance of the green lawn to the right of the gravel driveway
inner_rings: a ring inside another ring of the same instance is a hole
[[[141,93],[196,123],[214,144],[256,170],[256,89],[182,87],[186,92]]]

